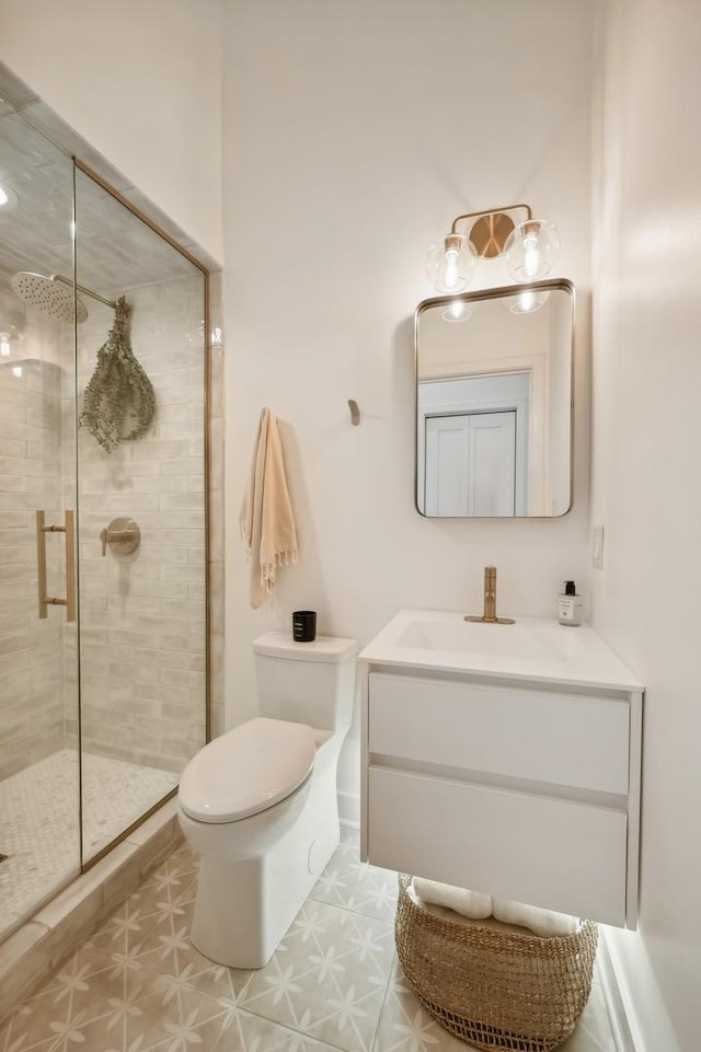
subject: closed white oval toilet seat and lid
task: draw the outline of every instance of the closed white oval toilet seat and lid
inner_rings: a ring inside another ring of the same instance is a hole
[[[180,806],[198,822],[238,822],[299,788],[314,753],[307,724],[256,716],[193,756],[180,782]]]

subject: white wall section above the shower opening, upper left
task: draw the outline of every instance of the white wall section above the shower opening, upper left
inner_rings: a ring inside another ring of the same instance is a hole
[[[2,0],[2,61],[221,259],[221,0]]]

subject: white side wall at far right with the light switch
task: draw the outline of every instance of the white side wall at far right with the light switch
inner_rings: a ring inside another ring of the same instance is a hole
[[[701,7],[607,4],[595,289],[597,627],[646,684],[640,933],[614,935],[646,1052],[699,1048]]]

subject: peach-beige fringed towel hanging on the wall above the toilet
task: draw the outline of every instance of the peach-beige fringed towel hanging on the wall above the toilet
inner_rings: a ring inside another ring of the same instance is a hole
[[[297,530],[277,418],[267,408],[261,414],[239,525],[252,559],[251,605],[257,609],[275,591],[277,567],[297,562]]]

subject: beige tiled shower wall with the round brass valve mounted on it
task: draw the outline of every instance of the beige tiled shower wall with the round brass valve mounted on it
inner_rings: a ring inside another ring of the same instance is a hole
[[[180,771],[205,740],[204,296],[202,276],[124,291],[131,346],[157,400],[150,431],[105,452],[79,429],[82,743],[89,752]],[[118,292],[116,293],[118,294]],[[79,395],[113,314],[92,301],[79,326]],[[70,441],[71,392],[64,403]],[[102,555],[116,517],[141,533]],[[67,634],[74,680],[76,638]],[[76,710],[67,707],[71,738]]]

